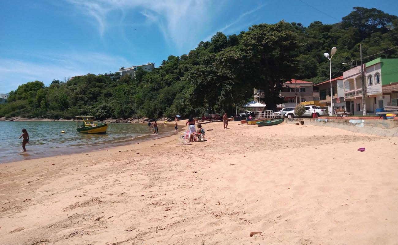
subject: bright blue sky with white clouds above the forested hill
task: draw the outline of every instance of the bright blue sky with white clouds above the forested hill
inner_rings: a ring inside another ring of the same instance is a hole
[[[303,3],[305,2],[305,3]],[[354,6],[398,15],[396,1],[374,0],[5,0],[0,8],[0,92],[34,80],[156,67],[217,31],[226,35],[279,20],[333,24]],[[328,14],[314,10],[310,6]],[[332,17],[330,17],[332,16]]]

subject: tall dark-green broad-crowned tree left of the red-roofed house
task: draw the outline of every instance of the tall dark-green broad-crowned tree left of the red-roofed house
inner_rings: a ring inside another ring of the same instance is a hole
[[[290,81],[297,73],[296,33],[291,24],[284,21],[272,25],[253,25],[244,33],[242,45],[250,55],[246,65],[259,71],[249,73],[246,80],[264,90],[268,109],[276,108],[281,101],[279,92],[283,82]]]

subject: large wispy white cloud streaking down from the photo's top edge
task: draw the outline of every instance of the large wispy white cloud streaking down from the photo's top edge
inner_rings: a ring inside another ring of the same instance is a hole
[[[144,16],[145,22],[156,26],[169,43],[177,49],[185,48],[187,43],[198,40],[197,31],[207,27],[211,21],[213,2],[210,0],[66,0],[79,14],[89,16],[96,22],[100,35],[104,35],[114,23],[126,22],[142,24],[139,16]],[[121,12],[123,14],[115,14]],[[129,12],[129,14],[126,14]],[[134,19],[134,21],[129,21]]]

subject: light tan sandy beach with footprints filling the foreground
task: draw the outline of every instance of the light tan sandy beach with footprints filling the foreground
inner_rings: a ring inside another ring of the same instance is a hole
[[[0,243],[398,244],[398,138],[203,127],[208,141],[191,145],[171,136],[0,165]]]

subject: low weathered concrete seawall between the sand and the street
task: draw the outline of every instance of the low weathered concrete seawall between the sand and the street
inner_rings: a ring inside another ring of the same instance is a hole
[[[398,137],[398,120],[285,118],[286,123],[336,127],[357,133]]]

